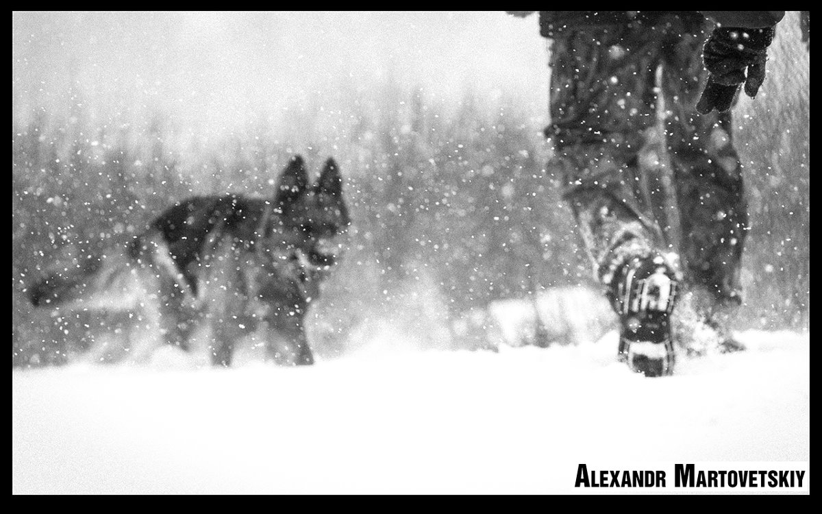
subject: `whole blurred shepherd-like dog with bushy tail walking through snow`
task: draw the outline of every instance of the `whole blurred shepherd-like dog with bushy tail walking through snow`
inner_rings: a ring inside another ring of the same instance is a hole
[[[309,185],[297,156],[275,197],[181,201],[126,245],[41,280],[30,299],[59,310],[136,313],[136,328],[156,328],[155,341],[184,349],[193,330],[207,327],[214,364],[231,364],[235,343],[251,333],[278,364],[312,364],[303,317],[349,223],[335,162]],[[156,345],[127,352],[141,359]]]

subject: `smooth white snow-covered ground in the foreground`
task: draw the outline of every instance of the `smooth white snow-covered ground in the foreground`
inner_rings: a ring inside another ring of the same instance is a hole
[[[577,347],[12,371],[13,493],[556,493],[580,462],[807,461],[809,337],[645,379]]]

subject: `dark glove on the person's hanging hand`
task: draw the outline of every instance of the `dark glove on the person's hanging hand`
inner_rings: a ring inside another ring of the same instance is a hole
[[[773,40],[774,27],[714,29],[702,51],[709,76],[696,110],[707,114],[714,108],[720,113],[731,109],[743,82],[745,94],[754,98],[765,80],[765,52]]]

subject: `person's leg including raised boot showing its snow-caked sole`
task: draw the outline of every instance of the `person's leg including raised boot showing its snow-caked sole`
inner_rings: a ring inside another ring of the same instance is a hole
[[[564,183],[584,248],[623,322],[620,351],[647,375],[671,371],[667,315],[676,292],[639,162],[644,132],[657,122],[660,49],[639,23],[556,34],[546,129],[555,146],[549,171]],[[645,343],[653,343],[646,348],[653,363],[630,354]]]

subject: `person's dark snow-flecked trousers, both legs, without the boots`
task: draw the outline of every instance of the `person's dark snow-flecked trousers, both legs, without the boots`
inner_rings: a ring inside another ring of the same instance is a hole
[[[695,110],[712,28],[681,12],[553,34],[549,171],[605,285],[627,259],[662,254],[691,289],[740,302],[747,209],[731,115]]]

